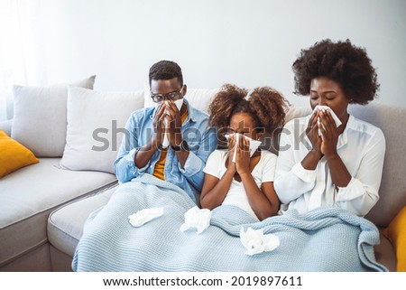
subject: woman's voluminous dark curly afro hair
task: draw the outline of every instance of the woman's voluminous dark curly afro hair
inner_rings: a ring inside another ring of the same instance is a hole
[[[376,72],[364,48],[356,47],[349,40],[316,42],[301,50],[293,62],[295,93],[308,96],[311,80],[323,76],[337,81],[351,103],[367,104],[379,90]]]

